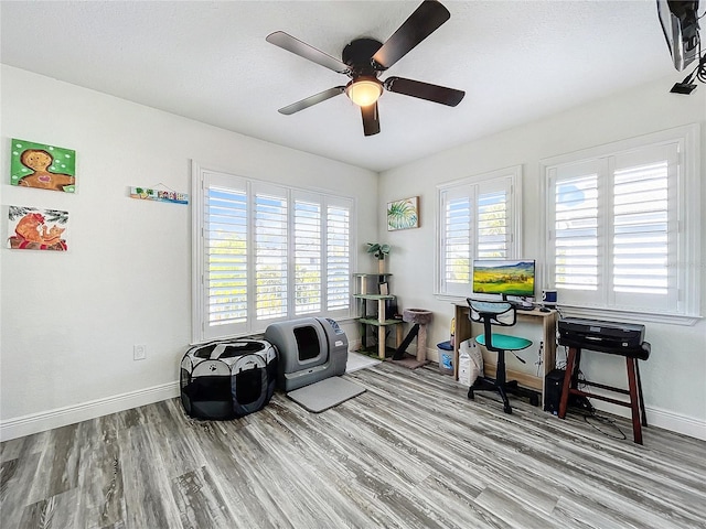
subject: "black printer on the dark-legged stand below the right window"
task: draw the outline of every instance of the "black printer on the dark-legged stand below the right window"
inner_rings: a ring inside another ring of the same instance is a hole
[[[599,352],[641,349],[644,325],[565,317],[558,322],[559,344]]]

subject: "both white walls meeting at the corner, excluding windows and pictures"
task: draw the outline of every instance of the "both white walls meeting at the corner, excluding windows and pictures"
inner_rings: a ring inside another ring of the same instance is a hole
[[[393,245],[393,293],[400,307],[434,311],[427,343],[436,359],[434,346],[448,339],[452,314],[432,294],[437,184],[523,164],[524,255],[535,255],[541,159],[691,122],[706,129],[706,87],[688,97],[670,95],[671,79],[438,153],[378,182],[366,170],[21,69],[2,66],[0,74],[0,166],[9,169],[11,138],[36,140],[75,149],[79,179],[75,195],[10,186],[8,177],[0,185],[3,218],[8,205],[71,215],[66,253],[9,250],[4,242],[0,249],[3,440],[176,395],[178,364],[191,335],[190,206],[133,201],[127,192],[160,183],[190,192],[191,159],[357,197],[356,271],[374,271],[364,242]],[[700,166],[706,171],[706,130]],[[414,195],[420,196],[421,227],[385,231],[387,202]],[[706,228],[706,182],[702,205]],[[0,226],[7,240],[4,222]],[[700,245],[706,255],[706,229]],[[703,260],[700,270],[706,306]],[[344,328],[357,338],[355,325]],[[648,419],[706,439],[706,322],[648,324],[646,339],[653,345],[641,367]],[[147,345],[146,360],[132,360],[133,344]],[[581,367],[589,379],[620,385],[624,367],[618,360],[586,355]]]

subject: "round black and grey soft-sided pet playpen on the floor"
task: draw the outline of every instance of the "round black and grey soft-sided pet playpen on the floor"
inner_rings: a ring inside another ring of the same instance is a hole
[[[181,401],[191,417],[232,419],[261,409],[275,392],[277,350],[265,339],[213,342],[181,360]]]

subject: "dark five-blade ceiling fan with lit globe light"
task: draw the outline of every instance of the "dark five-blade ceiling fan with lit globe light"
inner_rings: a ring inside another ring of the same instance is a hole
[[[280,108],[279,112],[289,116],[345,93],[354,104],[361,107],[363,132],[365,136],[373,136],[379,132],[377,99],[383,95],[383,89],[456,107],[466,95],[462,90],[403,77],[387,77],[384,82],[377,78],[382,72],[409,53],[450,17],[448,9],[437,0],[425,0],[384,44],[375,39],[355,39],[343,48],[342,61],[284,31],[267,35],[266,40],[270,44],[351,78],[345,86],[335,86],[314,94]]]

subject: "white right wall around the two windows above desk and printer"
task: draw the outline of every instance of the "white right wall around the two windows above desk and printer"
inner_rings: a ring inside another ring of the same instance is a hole
[[[434,292],[436,186],[488,171],[523,165],[523,255],[542,261],[544,212],[539,207],[539,161],[545,158],[633,138],[686,123],[702,128],[700,171],[706,171],[706,86],[691,96],[668,94],[673,78],[664,79],[531,125],[437,153],[381,175],[378,215],[381,239],[392,245],[389,271],[402,307],[435,313],[428,356],[435,344],[449,339],[452,307]],[[702,177],[700,231],[702,314],[706,313],[706,181]],[[419,195],[419,229],[384,231],[387,202]],[[542,285],[539,285],[541,288]],[[652,356],[641,363],[648,421],[706,439],[706,321],[694,326],[646,324]],[[584,355],[588,380],[627,386],[624,360],[602,354]],[[601,402],[593,401],[597,407]],[[603,404],[606,406],[606,404]],[[610,404],[609,404],[610,406]],[[611,407],[611,411],[628,410]]]

